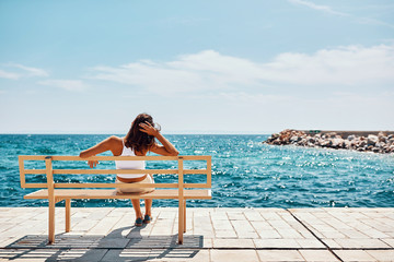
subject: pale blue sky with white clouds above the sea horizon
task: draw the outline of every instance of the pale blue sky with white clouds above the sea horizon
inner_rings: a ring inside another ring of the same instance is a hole
[[[0,133],[394,130],[392,0],[0,0]]]

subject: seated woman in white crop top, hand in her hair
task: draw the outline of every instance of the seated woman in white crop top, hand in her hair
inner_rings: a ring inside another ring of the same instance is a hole
[[[177,156],[179,153],[160,132],[154,128],[153,118],[148,114],[140,114],[132,121],[131,128],[125,138],[109,136],[95,146],[82,151],[80,157],[85,158],[95,156],[105,151],[111,151],[114,156],[146,156],[148,152],[153,152],[164,156]],[[160,141],[162,145],[155,142]],[[89,160],[88,165],[93,168],[99,164],[96,160]],[[144,160],[117,160],[115,162],[117,169],[144,169]],[[116,182],[139,182],[139,183],[154,183],[153,177],[147,174],[119,174],[116,176]],[[153,188],[130,188],[120,189],[121,192],[138,192],[146,193],[153,191]],[[142,226],[151,222],[152,200],[146,199],[146,213],[142,219],[140,209],[140,200],[131,200],[136,212],[136,226]]]

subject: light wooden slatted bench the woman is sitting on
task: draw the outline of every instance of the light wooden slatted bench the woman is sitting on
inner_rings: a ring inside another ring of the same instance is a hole
[[[175,160],[177,169],[54,169],[54,162],[86,162],[86,160]],[[185,169],[184,162],[204,160],[204,169]],[[42,162],[45,169],[25,169],[25,162]],[[66,231],[71,228],[71,200],[72,199],[174,199],[178,200],[178,243],[183,243],[183,234],[186,231],[186,200],[188,199],[211,199],[211,156],[93,156],[81,158],[79,156],[19,156],[20,178],[22,188],[39,189],[24,195],[24,199],[47,199],[49,202],[48,212],[48,240],[55,242],[55,204],[66,202]],[[177,175],[177,182],[174,183],[90,183],[90,182],[55,182],[55,175],[107,175],[107,174],[172,174]],[[206,175],[205,183],[185,183],[184,175]],[[26,176],[28,175],[27,179]],[[30,176],[46,175],[46,182],[26,182]],[[116,188],[155,188],[150,193],[117,193]]]

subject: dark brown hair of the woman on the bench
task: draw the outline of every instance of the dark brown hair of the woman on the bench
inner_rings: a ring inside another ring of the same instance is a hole
[[[135,152],[146,152],[155,143],[154,136],[140,131],[140,123],[149,122],[154,127],[153,118],[148,114],[140,114],[131,123],[131,128],[126,135],[125,145]],[[160,130],[160,128],[157,128]]]

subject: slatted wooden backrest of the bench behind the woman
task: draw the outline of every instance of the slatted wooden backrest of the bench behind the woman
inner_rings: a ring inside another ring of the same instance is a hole
[[[45,162],[45,169],[25,169],[25,162]],[[59,168],[54,169],[54,162],[86,162],[86,160],[172,160],[177,162],[176,169],[91,169],[86,168]],[[204,160],[206,166],[204,169],[185,169],[184,162]],[[184,188],[211,188],[211,156],[93,156],[89,158],[81,158],[79,156],[43,156],[43,155],[20,155],[20,179],[22,188],[177,188],[179,194],[183,194]],[[107,175],[107,174],[172,174],[177,175],[177,183],[91,183],[80,181],[54,182],[54,175]],[[185,183],[184,175],[206,175],[205,183]],[[34,183],[26,182],[25,175],[46,175],[47,182]],[[182,191],[182,192],[181,192]]]

